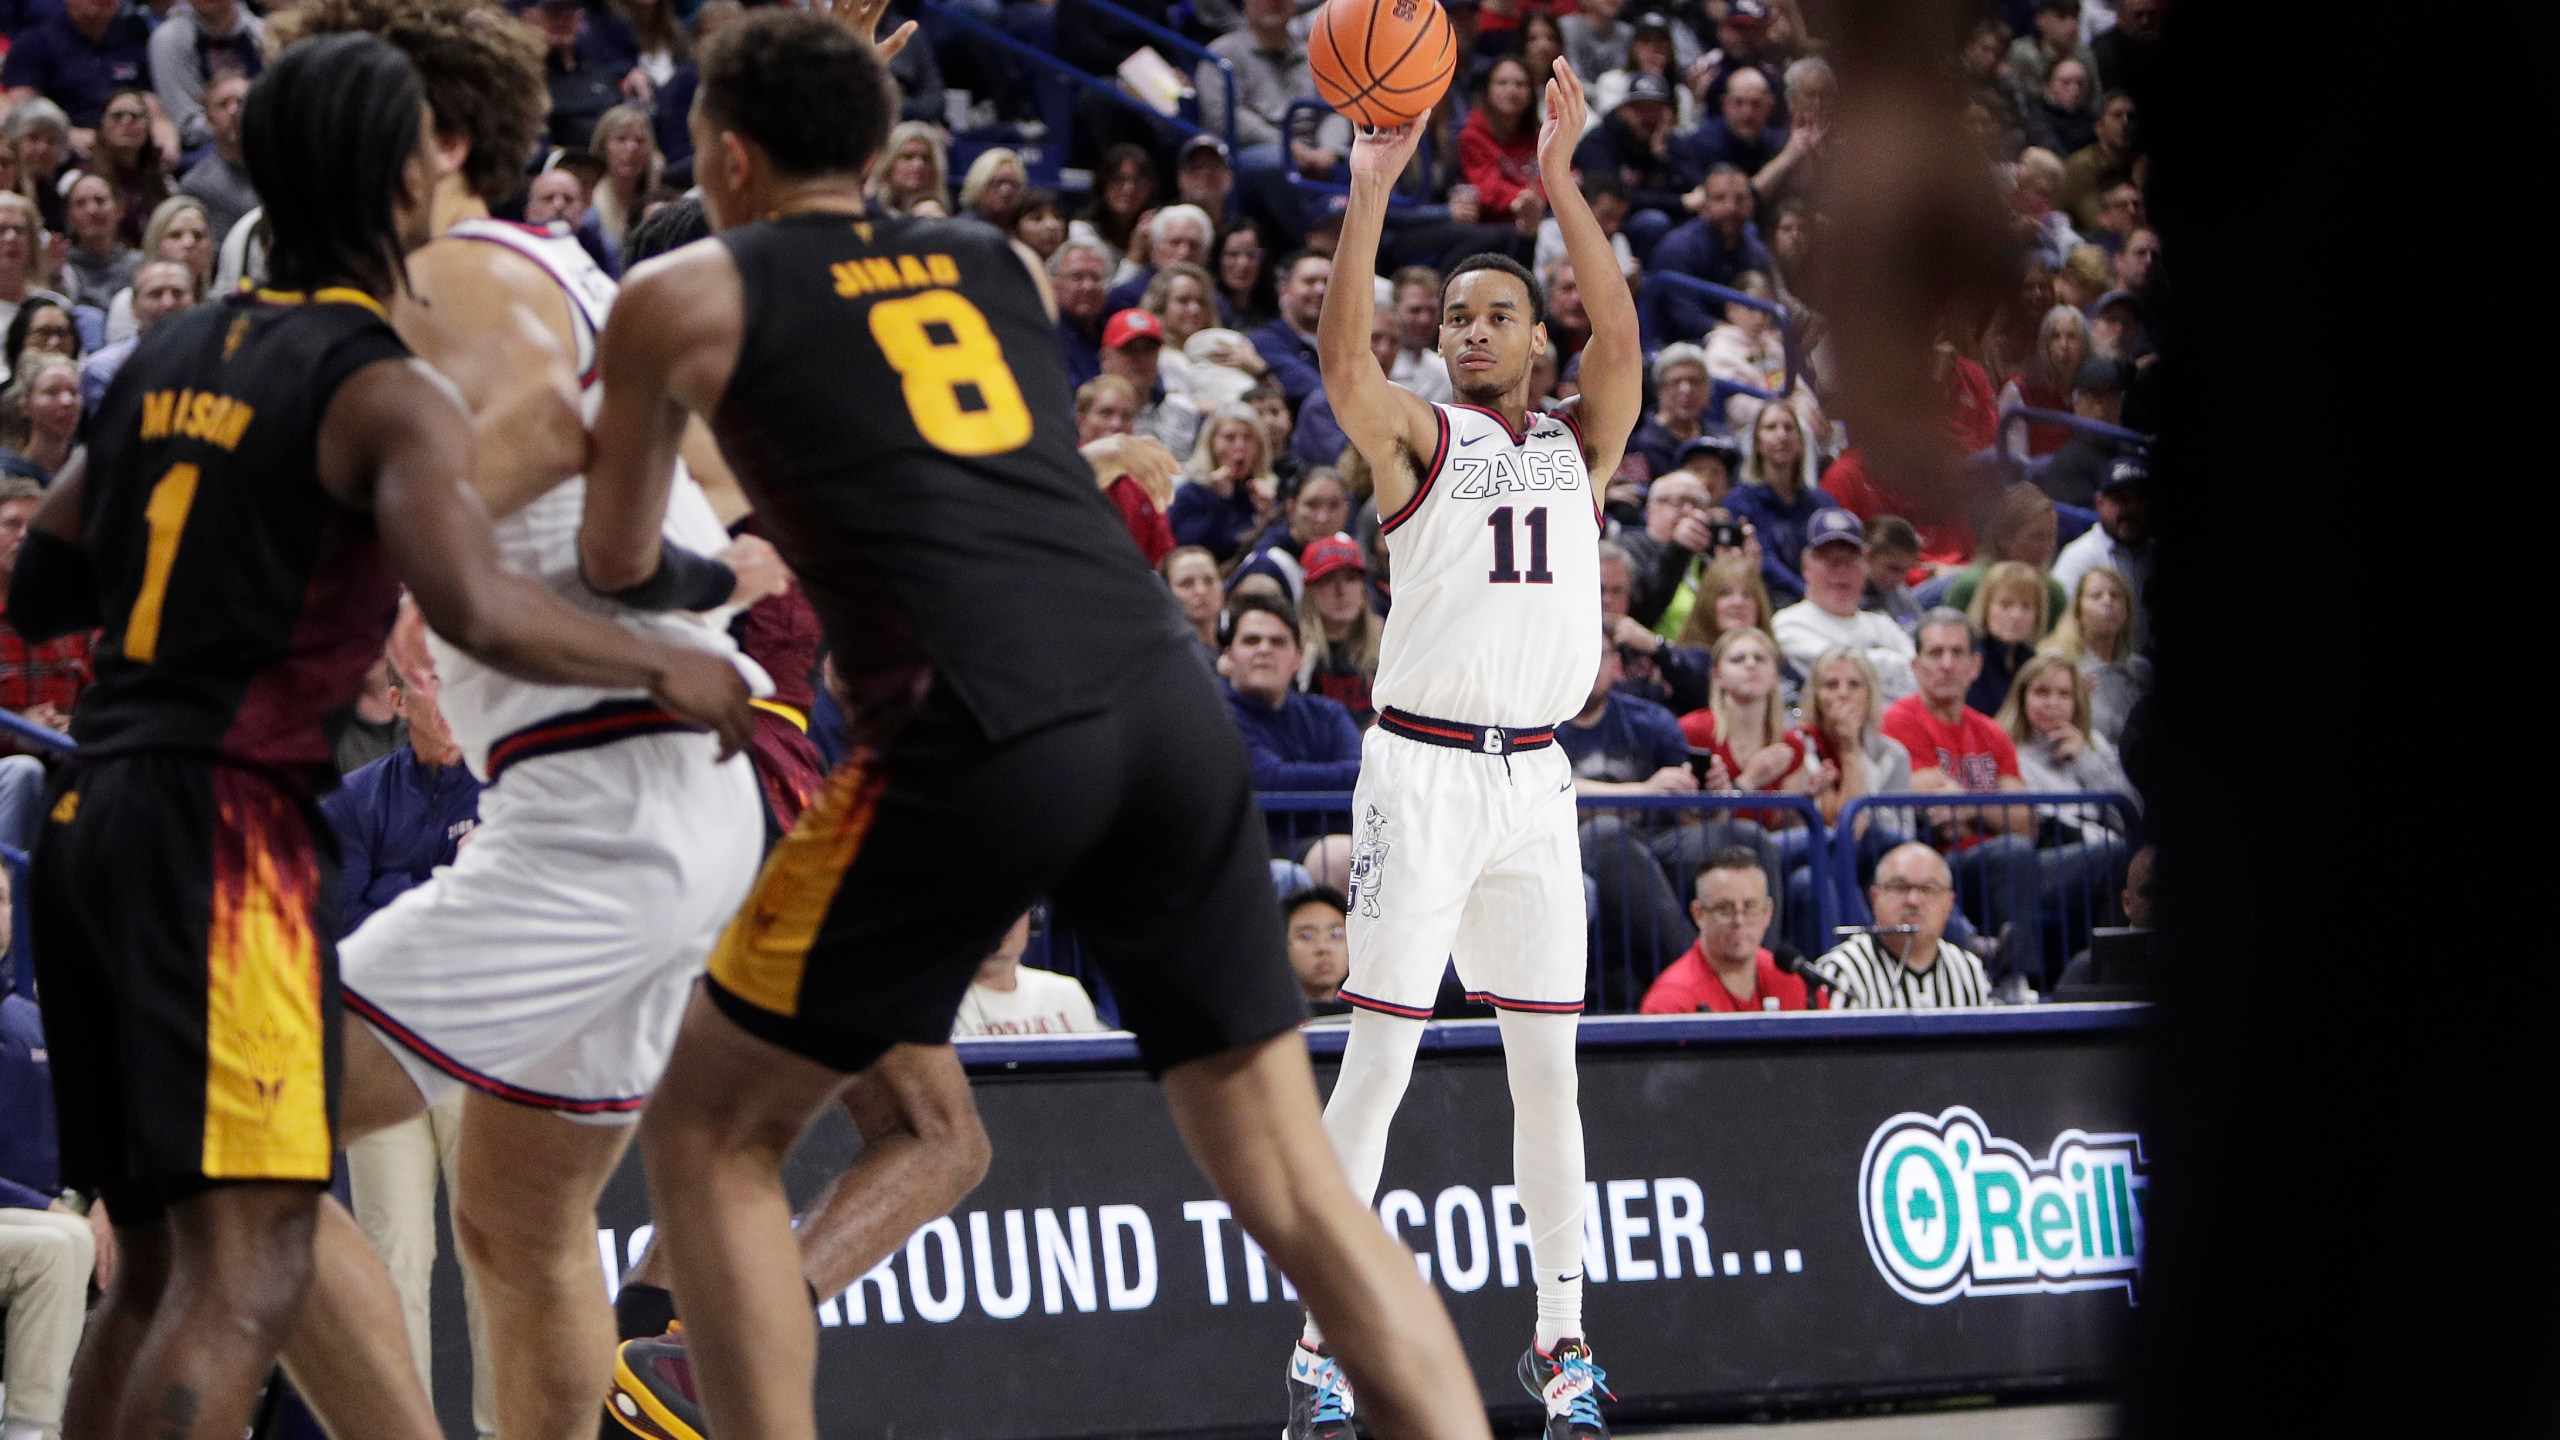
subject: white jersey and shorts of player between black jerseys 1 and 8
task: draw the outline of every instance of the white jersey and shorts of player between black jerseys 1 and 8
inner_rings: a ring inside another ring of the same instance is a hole
[[[596,333],[614,284],[568,236],[463,220],[448,236],[507,246],[561,282],[579,331],[589,418]],[[507,564],[571,605],[717,651],[763,694],[727,612],[640,612],[579,579],[584,479],[497,523]],[[678,471],[666,538],[714,553],[730,536]],[[430,635],[443,715],[489,789],[453,866],[338,948],[346,1004],[435,1104],[474,1086],[581,1120],[625,1122],[676,1043],[694,976],[763,861],[763,802],[745,756],[637,689],[509,679]]]

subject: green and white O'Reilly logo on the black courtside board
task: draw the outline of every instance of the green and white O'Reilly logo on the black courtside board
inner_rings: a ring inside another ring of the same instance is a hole
[[[2140,1135],[2063,1130],[2038,1161],[1969,1107],[1894,1115],[1859,1161],[1866,1256],[1905,1299],[2125,1286],[2143,1263]]]

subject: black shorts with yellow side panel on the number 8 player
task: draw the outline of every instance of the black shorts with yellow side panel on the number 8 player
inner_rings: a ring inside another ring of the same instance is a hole
[[[707,989],[750,1035],[860,1071],[947,1043],[978,963],[1039,897],[1155,1074],[1306,1020],[1244,743],[1175,648],[1108,710],[1006,743],[934,684],[765,858]]]

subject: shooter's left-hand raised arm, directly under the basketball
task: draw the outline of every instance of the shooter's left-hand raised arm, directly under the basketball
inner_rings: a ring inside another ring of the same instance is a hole
[[[1393,515],[1413,500],[1413,487],[1421,482],[1413,456],[1434,441],[1431,405],[1390,382],[1370,351],[1370,318],[1377,307],[1370,277],[1377,274],[1388,192],[1418,146],[1421,123],[1370,131],[1352,143],[1352,205],[1341,215],[1334,282],[1324,292],[1324,318],[1316,320],[1324,395],[1334,402],[1334,423],[1370,459],[1380,515]]]

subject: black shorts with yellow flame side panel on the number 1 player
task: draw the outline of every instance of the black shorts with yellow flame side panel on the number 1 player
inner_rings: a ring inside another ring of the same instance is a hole
[[[328,1184],[338,846],[312,797],[174,753],[64,766],[31,876],[61,1174],[118,1222]]]

